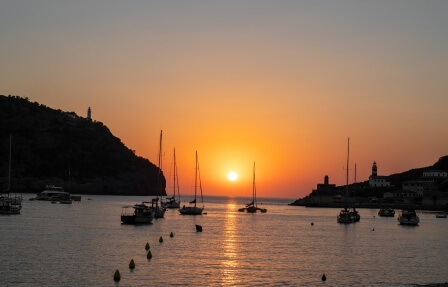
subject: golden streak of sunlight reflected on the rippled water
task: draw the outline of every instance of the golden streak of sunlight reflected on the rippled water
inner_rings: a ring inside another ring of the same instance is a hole
[[[240,280],[237,277],[238,270],[238,245],[237,245],[237,222],[235,216],[236,206],[234,203],[227,204],[224,240],[223,240],[223,255],[221,260],[222,283],[224,285],[234,286]]]

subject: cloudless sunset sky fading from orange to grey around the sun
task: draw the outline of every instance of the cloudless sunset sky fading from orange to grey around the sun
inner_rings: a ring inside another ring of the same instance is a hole
[[[448,1],[0,2],[0,94],[107,125],[181,193],[298,198],[448,155]],[[229,171],[239,174],[230,182]],[[171,192],[168,189],[168,192]]]

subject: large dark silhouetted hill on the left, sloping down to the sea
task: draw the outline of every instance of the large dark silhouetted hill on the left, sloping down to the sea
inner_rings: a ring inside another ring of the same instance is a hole
[[[160,169],[101,122],[2,95],[0,190],[7,187],[10,134],[12,191],[40,192],[52,184],[81,194],[166,195]]]

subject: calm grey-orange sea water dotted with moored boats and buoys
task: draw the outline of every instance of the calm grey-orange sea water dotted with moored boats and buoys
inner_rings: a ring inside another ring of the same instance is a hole
[[[378,210],[360,209],[361,222],[340,225],[338,209],[287,206],[292,199],[262,199],[268,212],[247,214],[237,209],[248,199],[208,197],[207,215],[168,210],[151,225],[129,226],[120,223],[121,206],[147,198],[84,195],[81,202],[61,205],[29,197],[21,215],[0,216],[0,286],[412,286],[448,281],[448,220],[434,214],[420,214],[418,227],[403,227],[396,218],[376,216]],[[202,233],[195,224],[203,226]],[[151,260],[146,259],[147,242]],[[116,269],[119,283],[113,281]]]

